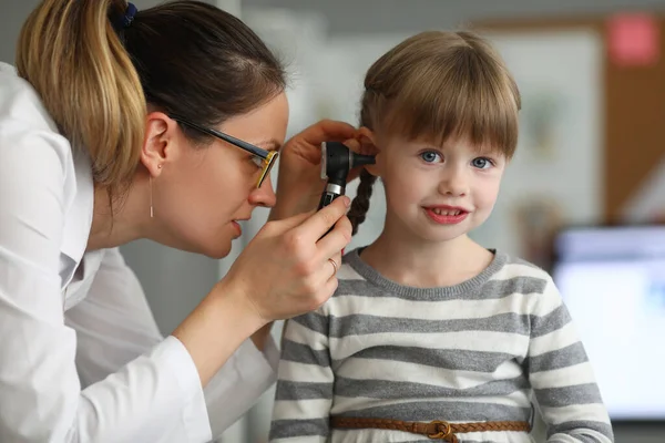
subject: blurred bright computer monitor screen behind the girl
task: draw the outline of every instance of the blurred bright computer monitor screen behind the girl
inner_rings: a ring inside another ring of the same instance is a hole
[[[571,227],[554,255],[611,419],[665,420],[665,227]]]

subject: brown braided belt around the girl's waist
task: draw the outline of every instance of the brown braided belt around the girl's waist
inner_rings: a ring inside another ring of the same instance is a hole
[[[478,422],[478,423],[448,423],[434,420],[429,423],[402,422],[399,420],[387,419],[357,419],[357,418],[330,418],[330,426],[337,429],[383,429],[391,431],[410,432],[413,434],[427,435],[432,440],[443,440],[450,443],[458,443],[454,434],[464,432],[482,431],[531,431],[528,422]]]

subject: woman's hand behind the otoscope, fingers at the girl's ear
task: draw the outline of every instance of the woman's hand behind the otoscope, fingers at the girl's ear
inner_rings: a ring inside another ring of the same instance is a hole
[[[316,209],[326,185],[320,177],[321,144],[342,142],[352,147],[355,136],[356,128],[348,123],[324,120],[286,142],[279,153],[277,204],[269,219]]]

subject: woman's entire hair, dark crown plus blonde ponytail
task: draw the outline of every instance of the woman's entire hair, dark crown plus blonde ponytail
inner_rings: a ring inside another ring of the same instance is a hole
[[[282,63],[245,23],[176,0],[123,23],[125,0],[43,0],[23,24],[19,75],[37,90],[96,186],[120,194],[140,164],[147,104],[204,126],[247,113],[286,86]],[[209,136],[182,126],[205,146]]]

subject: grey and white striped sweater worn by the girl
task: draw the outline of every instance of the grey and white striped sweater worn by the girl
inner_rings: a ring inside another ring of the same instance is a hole
[[[270,441],[426,442],[382,430],[330,430],[331,415],[482,422],[532,419],[549,442],[613,442],[592,367],[550,276],[497,253],[479,276],[446,288],[381,277],[347,254],[334,297],[288,321]],[[526,433],[461,442],[531,442]]]

